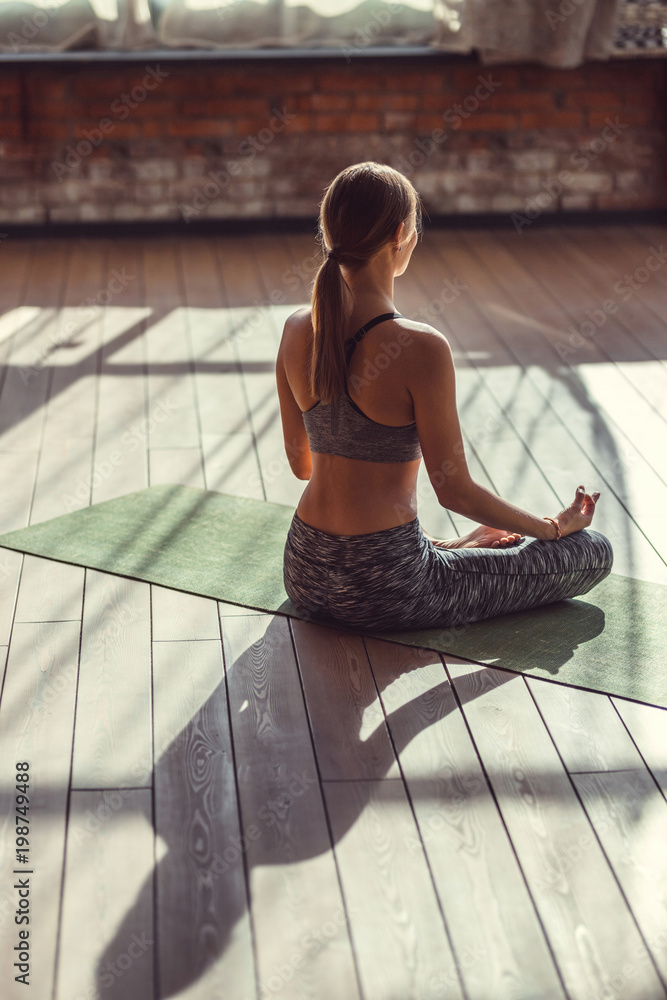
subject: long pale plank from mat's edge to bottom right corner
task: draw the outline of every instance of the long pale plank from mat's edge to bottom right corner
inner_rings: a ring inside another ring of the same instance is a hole
[[[568,997],[602,993],[629,963],[637,967],[637,996],[661,996],[632,915],[523,678],[508,682],[502,671],[446,660]]]

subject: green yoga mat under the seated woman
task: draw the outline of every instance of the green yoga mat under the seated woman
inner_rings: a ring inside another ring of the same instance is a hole
[[[152,486],[0,535],[0,546],[305,618],[283,587],[294,509]],[[667,707],[667,587],[611,575],[585,597],[474,625],[370,635]]]

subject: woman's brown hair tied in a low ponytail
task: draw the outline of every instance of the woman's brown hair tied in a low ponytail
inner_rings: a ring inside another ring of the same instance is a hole
[[[308,372],[312,396],[331,403],[345,390],[347,323],[354,307],[340,264],[354,271],[393,239],[401,222],[412,217],[421,233],[421,201],[410,181],[384,163],[366,161],[346,167],[326,188],[320,204],[318,240],[328,254],[315,275],[311,321],[313,346]],[[406,239],[412,236],[409,231]]]

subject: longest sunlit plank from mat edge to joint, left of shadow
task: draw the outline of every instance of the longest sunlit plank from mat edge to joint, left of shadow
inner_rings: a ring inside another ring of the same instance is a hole
[[[141,580],[86,570],[74,788],[150,785],[149,589]]]

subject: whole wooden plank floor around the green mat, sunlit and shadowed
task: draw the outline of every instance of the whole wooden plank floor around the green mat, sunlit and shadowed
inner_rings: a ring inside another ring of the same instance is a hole
[[[615,571],[663,585],[666,237],[428,231],[396,282],[478,481],[601,490]],[[315,250],[5,241],[0,531],[166,482],[295,505],[274,361]],[[665,710],[5,549],[0,676],[7,1000],[667,995]]]

